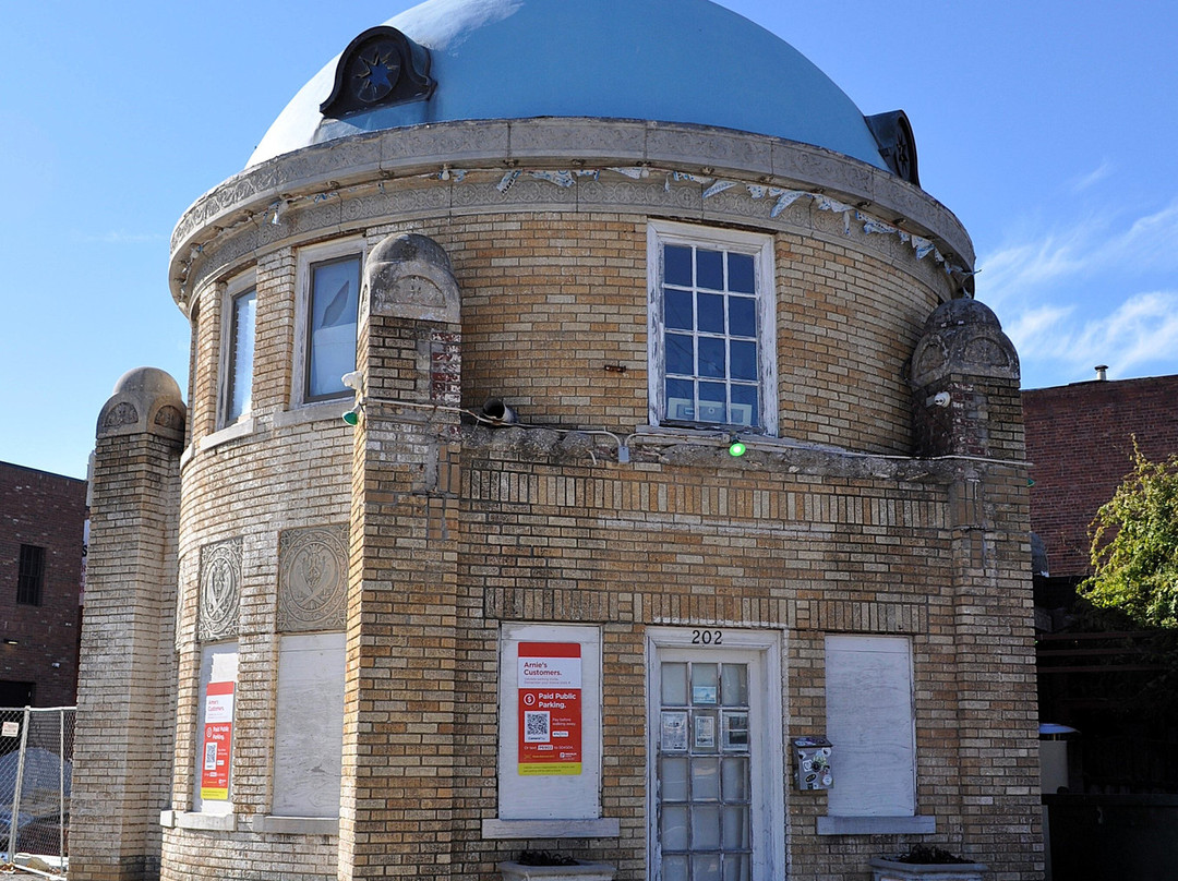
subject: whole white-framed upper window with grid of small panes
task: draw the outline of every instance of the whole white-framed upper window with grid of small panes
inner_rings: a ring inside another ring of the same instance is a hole
[[[770,237],[651,224],[648,261],[651,422],[776,433]]]

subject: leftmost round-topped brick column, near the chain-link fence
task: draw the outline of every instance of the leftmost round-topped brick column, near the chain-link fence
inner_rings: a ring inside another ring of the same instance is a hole
[[[74,741],[70,876],[159,877],[168,807],[185,409],[167,373],[126,373],[98,419]]]

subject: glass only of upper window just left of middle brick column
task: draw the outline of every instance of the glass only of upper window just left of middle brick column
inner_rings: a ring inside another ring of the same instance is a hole
[[[310,265],[304,400],[346,395],[340,377],[356,370],[360,257]]]

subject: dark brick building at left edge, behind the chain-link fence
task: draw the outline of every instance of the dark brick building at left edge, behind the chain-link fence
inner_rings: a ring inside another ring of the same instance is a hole
[[[72,707],[86,482],[0,462],[0,707]]]

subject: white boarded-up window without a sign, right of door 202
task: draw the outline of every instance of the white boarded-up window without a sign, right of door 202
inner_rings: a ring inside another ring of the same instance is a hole
[[[832,816],[913,816],[912,649],[892,636],[828,636],[826,724]]]

